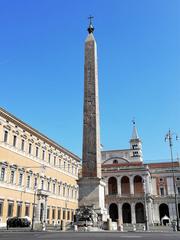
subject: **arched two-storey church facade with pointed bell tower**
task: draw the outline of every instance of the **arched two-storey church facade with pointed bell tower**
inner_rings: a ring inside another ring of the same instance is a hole
[[[173,176],[180,215],[180,163],[145,164],[135,125],[129,149],[102,151],[102,175],[112,221],[148,227],[176,220]]]

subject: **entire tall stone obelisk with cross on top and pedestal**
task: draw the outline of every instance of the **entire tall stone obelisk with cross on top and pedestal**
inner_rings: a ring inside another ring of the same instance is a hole
[[[108,215],[104,207],[106,184],[101,178],[97,47],[91,19],[85,41],[82,177],[78,180],[76,220],[79,225],[99,227]]]

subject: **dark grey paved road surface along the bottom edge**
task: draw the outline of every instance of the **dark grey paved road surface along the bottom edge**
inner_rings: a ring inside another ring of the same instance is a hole
[[[34,239],[65,239],[65,240],[115,240],[115,239],[142,239],[142,240],[176,240],[180,239],[179,232],[169,233],[119,233],[119,232],[0,232],[1,240],[34,240]]]

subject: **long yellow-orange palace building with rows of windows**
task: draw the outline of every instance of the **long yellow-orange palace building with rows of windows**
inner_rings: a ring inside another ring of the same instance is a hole
[[[0,227],[9,217],[33,225],[73,221],[80,158],[0,108]]]

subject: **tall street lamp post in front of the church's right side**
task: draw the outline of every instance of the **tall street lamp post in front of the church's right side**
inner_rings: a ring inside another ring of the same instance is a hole
[[[170,155],[171,155],[171,163],[172,163],[172,176],[173,176],[173,188],[174,188],[174,201],[175,201],[175,209],[176,209],[176,221],[177,221],[177,231],[180,231],[179,226],[179,211],[178,211],[178,199],[177,199],[177,191],[176,191],[176,181],[175,181],[175,174],[174,174],[174,160],[173,160],[173,151],[172,151],[172,140],[173,135],[176,136],[176,140],[178,140],[178,136],[175,133],[172,133],[169,129],[168,133],[165,136],[165,141],[169,142],[169,148],[170,148]]]

